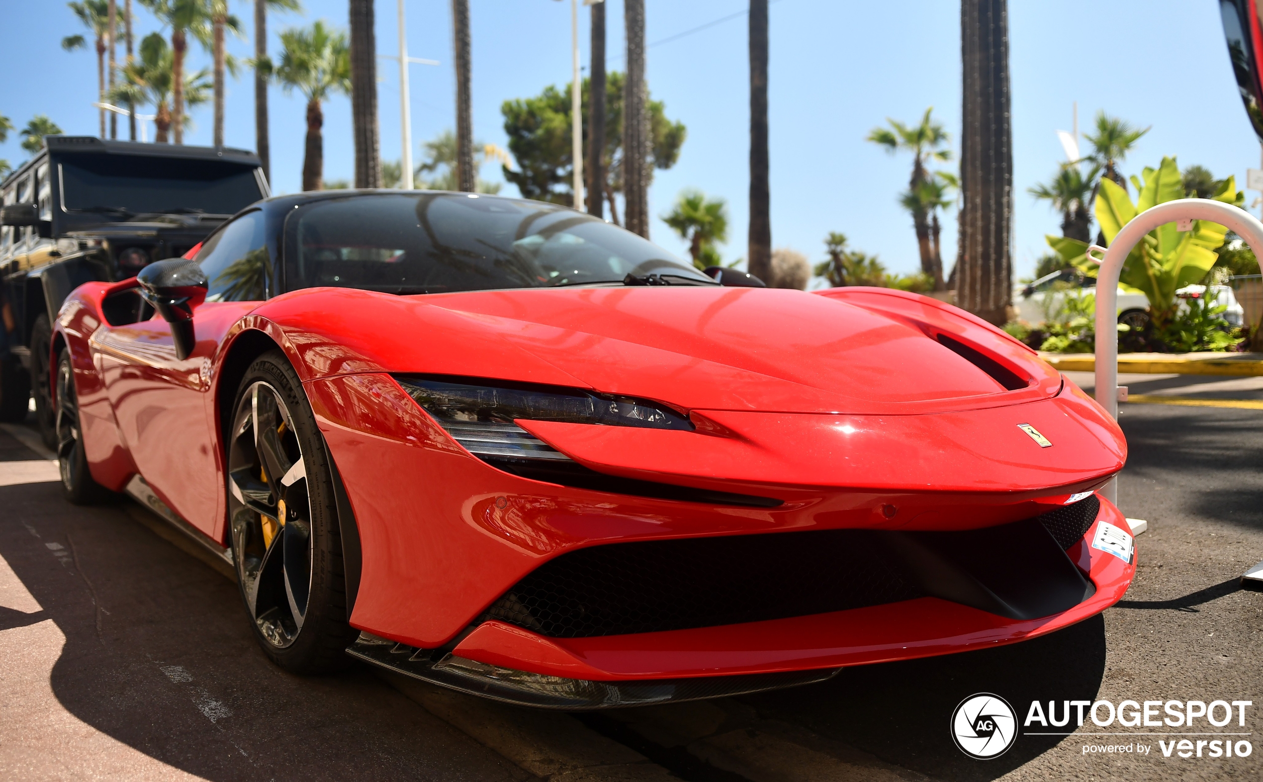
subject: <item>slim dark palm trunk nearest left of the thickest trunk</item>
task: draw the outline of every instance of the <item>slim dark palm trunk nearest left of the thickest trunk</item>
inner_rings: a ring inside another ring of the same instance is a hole
[[[750,235],[746,269],[772,282],[772,192],[768,182],[768,0],[750,1]]]

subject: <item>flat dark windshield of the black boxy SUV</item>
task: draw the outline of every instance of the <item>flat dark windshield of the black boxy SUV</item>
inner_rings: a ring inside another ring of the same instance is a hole
[[[235,215],[263,197],[253,165],[225,160],[75,154],[57,168],[68,211]]]

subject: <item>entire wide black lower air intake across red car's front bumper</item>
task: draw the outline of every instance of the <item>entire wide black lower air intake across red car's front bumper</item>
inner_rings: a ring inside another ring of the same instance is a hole
[[[821,529],[591,546],[527,574],[484,619],[587,638],[916,598],[1034,619],[1095,593],[1063,550],[1099,510],[1100,502],[1089,496],[1050,514],[961,532]]]

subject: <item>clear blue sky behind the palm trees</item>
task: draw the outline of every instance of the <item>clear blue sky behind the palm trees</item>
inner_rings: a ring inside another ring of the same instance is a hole
[[[123,0],[119,0],[123,5]],[[325,19],[345,27],[345,0],[303,0],[303,14],[277,14],[269,23],[272,51],[287,27]],[[474,130],[479,140],[505,147],[500,105],[570,81],[570,3],[556,0],[471,0],[474,37]],[[739,15],[702,32],[654,45],[746,8],[744,0],[647,0],[648,81],[667,115],[688,128],[678,164],[658,172],[650,212],[669,210],[676,195],[697,187],[727,200],[725,259],[745,255],[748,192],[746,23]],[[230,3],[253,33],[253,4]],[[453,125],[455,77],[451,68],[451,6],[447,0],[405,0],[408,48],[413,57],[440,66],[412,66],[414,143]],[[376,4],[378,51],[398,48],[395,0]],[[157,23],[138,6],[138,39]],[[587,9],[580,10],[586,68]],[[608,67],[621,69],[623,3],[609,0]],[[911,220],[897,197],[907,183],[909,160],[864,141],[866,133],[895,117],[916,120],[927,106],[954,141],[960,133],[959,5],[945,0],[902,4],[777,0],[770,6],[770,155],[772,239],[813,262],[822,239],[842,231],[856,249],[877,253],[893,270],[917,268]],[[0,6],[0,114],[20,128],[34,114],[48,114],[67,133],[95,134],[96,56],[63,52],[63,35],[83,32],[64,3],[9,3]],[[20,34],[16,34],[19,33]],[[1124,164],[1125,173],[1157,165],[1164,154],[1181,165],[1197,163],[1216,176],[1259,164],[1254,138],[1224,47],[1215,0],[1060,0],[1009,4],[1014,148],[1014,265],[1029,274],[1047,251],[1043,235],[1058,231],[1058,217],[1027,188],[1056,172],[1063,158],[1055,130],[1070,129],[1071,104],[1079,101],[1080,129],[1100,109],[1152,130]],[[250,39],[231,39],[237,56],[253,53]],[[210,56],[191,45],[193,67]],[[121,57],[121,47],[120,47]],[[400,154],[398,69],[379,62],[379,106],[384,158]],[[25,75],[25,76],[24,76]],[[299,189],[303,101],[270,91],[273,187]],[[351,178],[350,100],[326,105],[325,177]],[[211,110],[193,111],[191,144],[210,144]],[[229,81],[226,141],[254,148],[253,78]],[[125,129],[125,123],[120,123]],[[125,133],[125,130],[124,130]],[[25,154],[10,135],[0,158],[18,163]],[[419,152],[414,149],[414,157]],[[955,167],[955,162],[951,164]],[[484,177],[500,179],[496,167]],[[515,195],[506,184],[501,192]],[[1253,201],[1255,193],[1248,193]],[[956,255],[955,216],[946,221],[943,260]],[[685,251],[685,243],[661,220],[653,239]]]

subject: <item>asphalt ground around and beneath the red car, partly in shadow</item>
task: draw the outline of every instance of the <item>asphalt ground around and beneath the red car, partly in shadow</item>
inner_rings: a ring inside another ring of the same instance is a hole
[[[138,507],[66,504],[48,465],[0,432],[0,778],[1260,778],[1263,594],[1236,579],[1263,560],[1263,412],[1125,404],[1122,423],[1120,507],[1151,526],[1130,591],[1101,617],[1027,643],[853,668],[826,685],[586,716],[364,667],[288,676],[255,648],[235,586],[205,557],[155,533]],[[978,692],[1003,696],[1019,719],[1032,700],[1058,710],[1063,700],[1250,700],[1245,726],[1197,729],[1249,733],[1238,738],[1255,752],[1163,757],[1158,740],[1182,737],[1086,734],[1188,729],[1087,721],[973,761],[949,720]],[[1103,743],[1152,749],[1084,754]]]

